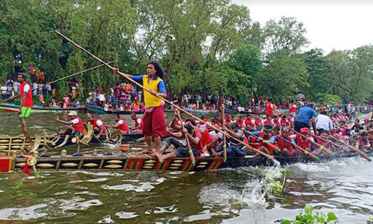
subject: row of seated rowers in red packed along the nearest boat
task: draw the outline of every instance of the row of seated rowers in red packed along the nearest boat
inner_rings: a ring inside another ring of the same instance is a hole
[[[186,133],[194,156],[222,156],[223,155],[223,133],[213,128],[209,128],[203,122],[196,122],[189,118],[183,122],[184,129],[180,124],[178,117],[175,115],[167,132],[171,136],[167,138],[164,145],[156,155],[160,161],[173,157],[188,156],[188,150],[184,143],[179,139]],[[227,157],[244,157],[245,155],[260,156],[261,154],[246,147],[245,144],[261,150],[271,155],[279,156],[294,156],[298,152],[294,147],[302,148],[313,152],[315,155],[321,155],[325,152],[319,147],[323,145],[330,150],[335,149],[330,145],[328,140],[328,132],[322,131],[320,136],[313,138],[308,127],[300,128],[300,133],[293,132],[287,125],[282,127],[267,124],[263,125],[261,130],[251,131],[251,128],[241,127],[237,121],[232,121],[229,117],[222,116],[214,117],[212,120],[204,118],[205,122],[210,123],[216,129],[220,129],[228,133],[233,138],[226,136]],[[225,125],[222,125],[225,122]],[[209,129],[211,131],[209,131]],[[294,134],[291,134],[294,133]],[[239,141],[237,141],[236,139]],[[174,146],[171,153],[164,154],[166,149]],[[279,148],[280,150],[278,150]],[[277,151],[276,151],[277,149]]]

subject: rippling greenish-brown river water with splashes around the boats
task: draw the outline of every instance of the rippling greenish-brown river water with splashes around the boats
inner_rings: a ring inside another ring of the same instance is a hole
[[[33,113],[30,132],[57,129],[55,114]],[[0,112],[3,135],[20,134],[16,113]],[[66,115],[61,115],[66,117]],[[85,117],[82,114],[82,117]],[[98,115],[106,123],[113,116]],[[129,116],[125,119],[132,125]],[[306,204],[334,212],[339,223],[373,216],[373,164],[360,157],[293,164],[288,192],[263,195],[264,172],[21,172],[0,173],[0,223],[229,223],[270,224],[294,219]]]

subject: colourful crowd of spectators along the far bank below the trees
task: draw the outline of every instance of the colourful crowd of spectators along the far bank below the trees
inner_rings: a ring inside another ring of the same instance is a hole
[[[102,89],[96,87],[90,90],[88,93],[84,92],[82,85],[78,83],[69,83],[69,92],[64,95],[61,99],[57,100],[57,90],[53,85],[42,86],[41,82],[32,82],[32,92],[34,98],[38,102],[38,105],[49,105],[49,107],[61,107],[61,108],[79,108],[83,107],[84,104],[90,104],[96,107],[103,108],[104,110],[113,111],[132,111],[132,112],[143,112],[145,111],[143,102],[143,91],[138,90],[137,87],[130,83],[121,83],[119,85],[112,86],[109,89]],[[15,80],[8,79],[0,83],[1,88],[1,99],[6,100],[19,92],[19,83]],[[85,97],[86,95],[86,97]],[[82,101],[86,99],[85,101]],[[252,96],[248,99],[246,105],[241,104],[237,99],[232,97],[222,97],[214,94],[182,94],[168,96],[169,100],[175,105],[191,110],[217,110],[217,105],[224,103],[227,109],[246,111],[246,112],[265,112],[268,98]],[[14,100],[9,100],[9,103],[13,103]],[[303,99],[285,101],[285,100],[273,100],[274,109],[276,110],[289,110],[290,107],[301,108],[314,103]],[[167,109],[173,109],[170,105]],[[328,114],[332,114],[332,117],[337,119],[342,115],[346,114],[349,119],[353,119],[356,112],[368,113],[372,111],[369,106],[354,107],[354,102],[349,102],[346,105],[324,105],[318,103],[315,106],[316,112],[326,110]]]

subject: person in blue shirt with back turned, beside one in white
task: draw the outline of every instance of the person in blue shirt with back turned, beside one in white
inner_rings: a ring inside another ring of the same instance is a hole
[[[316,130],[316,111],[314,110],[315,105],[313,103],[309,104],[307,107],[299,108],[296,111],[294,119],[294,130],[300,132],[300,128],[307,127],[310,128],[310,123],[312,122],[313,131],[317,135]]]

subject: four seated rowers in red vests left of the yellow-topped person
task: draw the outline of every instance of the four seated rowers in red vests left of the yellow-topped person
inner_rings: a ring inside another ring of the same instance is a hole
[[[58,116],[56,116],[56,121],[62,124],[67,125],[66,129],[62,131],[60,134],[74,134],[83,135],[84,134],[84,127],[85,124],[78,116],[78,113],[75,111],[70,111],[68,113],[70,120],[60,120]],[[134,120],[134,126],[128,127],[127,123],[120,117],[120,114],[115,114],[115,125],[105,125],[102,120],[95,118],[92,114],[87,114],[87,121],[88,123],[93,125],[93,135],[94,137],[98,138],[101,135],[106,135],[106,128],[117,128],[123,134],[125,133],[142,133],[143,130],[143,122],[141,117],[138,117],[135,113],[131,113],[131,118]]]

